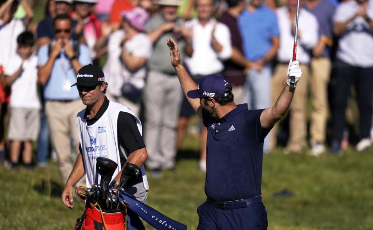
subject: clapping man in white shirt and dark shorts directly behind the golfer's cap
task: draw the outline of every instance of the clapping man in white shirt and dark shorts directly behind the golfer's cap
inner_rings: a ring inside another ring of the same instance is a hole
[[[232,56],[229,28],[213,17],[217,4],[218,1],[216,0],[197,0],[195,6],[197,18],[186,23],[187,27],[192,28],[193,53],[191,57],[185,58],[185,64],[197,84],[206,75],[222,73],[224,70],[223,61]],[[184,124],[188,123],[192,114],[194,114],[194,110],[185,98],[180,114]],[[185,130],[180,129],[180,132],[185,132]],[[206,168],[206,139],[207,129],[202,127],[200,159],[200,169],[202,171],[205,171]]]

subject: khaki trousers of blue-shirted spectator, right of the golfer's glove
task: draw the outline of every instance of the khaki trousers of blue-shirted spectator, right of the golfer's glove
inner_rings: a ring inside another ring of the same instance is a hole
[[[311,60],[311,143],[325,142],[328,116],[327,85],[330,78],[331,62],[327,57]]]

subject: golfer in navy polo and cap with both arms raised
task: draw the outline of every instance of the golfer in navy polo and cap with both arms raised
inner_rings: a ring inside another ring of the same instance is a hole
[[[197,229],[267,229],[261,202],[263,141],[291,104],[302,73],[299,63],[289,63],[286,84],[275,105],[248,110],[247,104],[233,102],[232,86],[222,75],[207,75],[197,86],[181,63],[176,42],[169,38],[167,45],[183,91],[208,130],[207,200],[197,209]],[[291,76],[295,84],[290,83]]]

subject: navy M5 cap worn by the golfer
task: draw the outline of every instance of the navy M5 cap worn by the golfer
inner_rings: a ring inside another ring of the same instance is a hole
[[[198,89],[191,90],[187,93],[189,98],[225,97],[224,91],[231,84],[220,74],[211,74],[204,76],[198,83]]]

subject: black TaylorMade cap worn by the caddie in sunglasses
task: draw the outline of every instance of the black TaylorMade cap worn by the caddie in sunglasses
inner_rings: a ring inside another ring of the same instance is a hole
[[[74,85],[94,86],[105,81],[104,72],[98,66],[88,64],[79,69],[76,75],[76,83]]]

